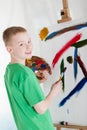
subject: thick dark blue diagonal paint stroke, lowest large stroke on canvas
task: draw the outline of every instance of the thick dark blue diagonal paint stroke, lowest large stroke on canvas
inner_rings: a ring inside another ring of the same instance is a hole
[[[87,78],[83,78],[76,87],[59,103],[59,107],[63,106],[75,93],[79,92],[87,82]]]

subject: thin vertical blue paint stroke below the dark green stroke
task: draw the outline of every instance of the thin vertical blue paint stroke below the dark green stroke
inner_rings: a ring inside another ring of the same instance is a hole
[[[74,50],[74,63],[73,63],[73,68],[74,68],[74,78],[77,78],[77,73],[78,73],[78,65],[77,65],[77,61],[75,60],[77,57],[77,53],[78,53],[78,49],[75,48]]]

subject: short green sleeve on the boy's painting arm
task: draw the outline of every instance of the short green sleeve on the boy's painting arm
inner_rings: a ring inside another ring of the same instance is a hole
[[[26,76],[22,81],[22,92],[30,106],[45,99],[41,86],[34,74]]]

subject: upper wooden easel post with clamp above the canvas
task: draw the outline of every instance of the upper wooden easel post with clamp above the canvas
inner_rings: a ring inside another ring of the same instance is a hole
[[[72,18],[70,17],[70,11],[68,7],[68,0],[62,0],[63,9],[61,10],[61,20],[58,20],[58,23],[70,21]]]

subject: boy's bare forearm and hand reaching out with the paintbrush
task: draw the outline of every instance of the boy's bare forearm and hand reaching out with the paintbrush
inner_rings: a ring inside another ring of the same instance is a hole
[[[54,99],[54,97],[60,93],[62,91],[62,81],[57,81],[56,83],[54,83],[52,85],[52,88],[49,92],[49,94],[47,95],[47,97],[45,98],[45,100],[37,103],[34,106],[34,109],[39,113],[39,114],[43,114],[45,113],[45,111],[49,108],[49,106],[52,103],[52,100]]]

